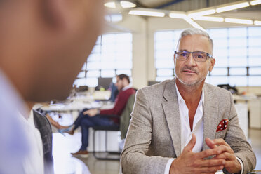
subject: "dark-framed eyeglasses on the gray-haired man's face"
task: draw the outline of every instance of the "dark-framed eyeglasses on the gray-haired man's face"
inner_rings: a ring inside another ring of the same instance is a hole
[[[192,53],[192,57],[196,62],[206,62],[208,58],[212,58],[212,55],[201,51],[175,51],[175,58],[178,60],[187,60],[187,58],[189,58],[190,53]]]

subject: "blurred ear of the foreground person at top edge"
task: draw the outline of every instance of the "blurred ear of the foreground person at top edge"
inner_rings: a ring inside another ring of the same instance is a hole
[[[64,27],[66,22],[67,0],[39,0],[41,15],[50,27]]]

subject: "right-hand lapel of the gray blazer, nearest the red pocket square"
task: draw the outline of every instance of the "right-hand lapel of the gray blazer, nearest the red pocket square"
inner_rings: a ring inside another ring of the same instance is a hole
[[[204,105],[203,105],[203,150],[209,149],[205,139],[215,139],[215,130],[217,126],[218,102],[213,97],[213,91],[210,91],[207,85],[204,86]]]

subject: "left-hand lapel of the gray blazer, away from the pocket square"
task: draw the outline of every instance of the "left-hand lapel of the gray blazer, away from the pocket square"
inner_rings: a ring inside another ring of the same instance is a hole
[[[170,81],[166,84],[166,88],[163,92],[163,97],[166,99],[162,103],[163,111],[166,116],[166,121],[168,123],[168,129],[170,131],[170,136],[175,148],[176,156],[180,156],[180,110],[178,107],[178,97],[175,88],[175,80]]]

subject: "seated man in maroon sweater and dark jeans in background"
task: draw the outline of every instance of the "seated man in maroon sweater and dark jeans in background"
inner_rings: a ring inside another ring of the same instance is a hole
[[[106,115],[121,116],[123,109],[128,102],[128,98],[135,93],[135,89],[129,86],[130,79],[126,74],[119,74],[116,76],[116,87],[119,90],[119,94],[116,97],[115,105],[112,109],[83,109],[79,114],[76,121],[72,125],[71,129],[67,132],[71,135],[74,134],[74,130],[81,126],[81,148],[78,152],[72,153],[73,155],[81,154],[87,155],[88,147],[88,129],[93,126],[117,126],[119,125],[119,119],[106,118]],[[104,116],[105,115],[105,116]]]

